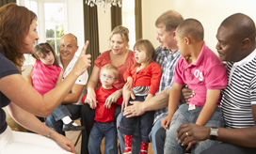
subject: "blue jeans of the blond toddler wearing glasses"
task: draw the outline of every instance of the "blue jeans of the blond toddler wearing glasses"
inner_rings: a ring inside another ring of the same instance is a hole
[[[104,138],[104,154],[118,154],[117,129],[114,121],[95,121],[89,133],[89,154],[100,154],[99,146]]]

